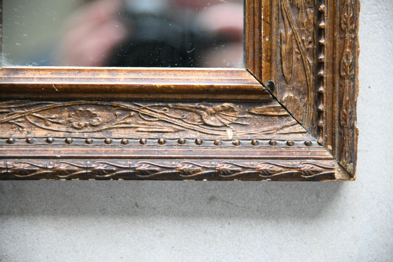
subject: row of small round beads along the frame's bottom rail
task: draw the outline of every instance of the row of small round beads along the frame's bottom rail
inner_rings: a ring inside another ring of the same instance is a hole
[[[71,144],[71,143],[73,142],[73,139],[72,139],[72,137],[67,137],[66,139],[64,139],[64,141],[65,141],[66,144]],[[94,140],[93,140],[92,138],[86,138],[84,141],[85,141],[85,143],[88,144],[88,145],[91,145],[91,144],[94,142]],[[13,138],[8,138],[8,139],[6,140],[6,142],[7,142],[8,144],[11,145],[11,144],[13,144],[13,143],[15,142],[15,139],[13,139]],[[46,138],[46,143],[52,144],[53,142],[54,142],[54,139],[53,139],[52,137]],[[158,142],[158,144],[163,145],[163,144],[165,144],[166,140],[165,140],[164,138],[160,138],[160,139],[157,140],[157,142]],[[178,139],[177,142],[178,142],[180,145],[184,145],[184,144],[186,143],[186,139],[180,138],[180,139]],[[26,143],[32,144],[32,143],[34,143],[34,139],[33,139],[33,138],[26,138]],[[110,138],[105,138],[105,139],[104,139],[104,143],[107,144],[107,145],[109,145],[110,143],[112,143],[112,139],[110,139]],[[129,143],[129,141],[128,141],[127,138],[123,138],[123,139],[121,139],[120,143],[123,144],[123,145],[127,145],[127,144]],[[141,145],[145,145],[145,144],[147,143],[147,139],[146,139],[146,138],[141,138],[141,139],[139,140],[139,143],[140,143]],[[203,143],[203,140],[202,140],[202,139],[199,139],[199,138],[195,139],[195,144],[196,144],[196,145],[202,145],[202,143]],[[214,141],[214,145],[216,145],[216,146],[221,145],[221,143],[222,143],[222,141],[219,140],[219,139],[217,139],[217,140]],[[239,139],[234,139],[234,140],[232,141],[232,143],[233,143],[233,145],[235,145],[235,146],[239,146],[241,142],[240,142]],[[286,145],[288,145],[288,146],[293,146],[294,143],[295,143],[295,142],[294,142],[293,140],[287,140],[287,141],[286,141]],[[251,141],[251,144],[254,145],[254,146],[257,146],[257,145],[259,144],[259,141],[258,141],[257,139],[253,139],[253,140]],[[309,146],[312,145],[312,142],[311,142],[310,140],[306,140],[306,141],[304,142],[304,144],[305,144],[306,146],[309,147]],[[272,140],[269,141],[269,145],[275,146],[275,145],[277,145],[277,141],[275,141],[275,140],[272,139]]]

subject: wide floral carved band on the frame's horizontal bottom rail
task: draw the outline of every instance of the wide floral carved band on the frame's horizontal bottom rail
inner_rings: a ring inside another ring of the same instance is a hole
[[[78,107],[75,109],[75,106]],[[259,121],[257,115],[283,117],[283,121],[277,120],[275,126],[256,125]],[[249,125],[247,119],[254,119],[253,126],[242,128],[241,126]],[[139,104],[71,101],[26,104],[20,102],[10,105],[4,102],[0,103],[0,125],[2,124],[16,125],[22,130],[33,125],[40,129],[62,132],[100,132],[117,128],[156,134],[188,130],[195,134],[224,136],[230,139],[235,135],[305,133],[301,131],[302,128],[294,126],[296,121],[290,118],[278,103],[266,103],[248,109],[232,103]]]

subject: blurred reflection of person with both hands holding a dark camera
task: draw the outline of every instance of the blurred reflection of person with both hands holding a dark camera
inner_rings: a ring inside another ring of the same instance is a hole
[[[80,7],[64,24],[55,63],[241,66],[243,5],[238,2],[94,0]]]

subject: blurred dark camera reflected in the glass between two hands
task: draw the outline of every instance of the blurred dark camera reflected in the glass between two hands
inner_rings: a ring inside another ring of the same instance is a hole
[[[176,19],[177,10],[157,11],[157,1],[129,0],[127,4],[120,16],[129,37],[114,49],[106,66],[193,67],[198,54],[217,42],[192,22]]]

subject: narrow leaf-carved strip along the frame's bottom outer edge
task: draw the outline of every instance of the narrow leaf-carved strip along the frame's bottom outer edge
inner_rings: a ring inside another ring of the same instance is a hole
[[[126,159],[112,159],[109,161],[95,161],[91,167],[88,162],[79,159],[68,161],[46,161],[42,159],[30,159],[28,161],[5,161],[0,162],[0,178],[12,176],[25,179],[40,178],[76,178],[76,179],[184,179],[184,178],[239,178],[249,180],[255,178],[296,178],[296,176],[310,179],[326,178],[332,175],[334,178],[333,161],[303,161],[294,165],[292,161],[255,161],[246,160],[241,162],[220,161],[215,164],[213,160],[193,159],[192,161],[180,161],[152,159],[151,161],[138,161],[130,165]],[[5,171],[4,171],[5,169]]]

